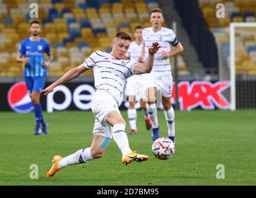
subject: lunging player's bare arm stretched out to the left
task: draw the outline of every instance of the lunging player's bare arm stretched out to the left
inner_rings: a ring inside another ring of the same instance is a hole
[[[83,72],[87,71],[88,69],[84,66],[84,64],[80,64],[80,66],[75,67],[74,69],[71,69],[70,71],[66,72],[60,79],[53,82],[49,87],[45,88],[40,92],[40,95],[47,95],[47,93],[53,92],[54,88],[58,85],[64,84],[65,82],[68,82],[70,80],[75,79]]]

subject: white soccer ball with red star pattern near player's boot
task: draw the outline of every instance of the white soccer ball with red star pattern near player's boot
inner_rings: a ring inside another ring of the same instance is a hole
[[[152,152],[160,160],[167,160],[175,153],[175,144],[167,137],[160,137],[152,145]]]

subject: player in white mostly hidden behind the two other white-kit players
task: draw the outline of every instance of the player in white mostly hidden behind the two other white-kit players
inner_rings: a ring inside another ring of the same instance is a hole
[[[130,48],[126,54],[126,58],[130,59],[130,61],[137,62],[141,55],[143,46],[142,30],[143,27],[141,25],[138,25],[134,28],[135,40],[130,43]],[[127,110],[127,114],[130,124],[130,134],[138,133],[136,125],[137,111],[135,109],[136,100],[140,100],[140,106],[142,111],[144,111],[146,128],[149,130],[152,126],[149,113],[147,113],[147,102],[145,95],[147,89],[147,79],[145,75],[149,74],[132,75],[127,79],[126,96],[129,98],[129,108]]]

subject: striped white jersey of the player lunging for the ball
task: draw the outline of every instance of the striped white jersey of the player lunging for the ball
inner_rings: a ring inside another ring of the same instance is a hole
[[[111,93],[117,102],[121,100],[127,77],[133,73],[136,62],[117,60],[111,54],[95,51],[85,61],[85,67],[93,68],[94,87]]]

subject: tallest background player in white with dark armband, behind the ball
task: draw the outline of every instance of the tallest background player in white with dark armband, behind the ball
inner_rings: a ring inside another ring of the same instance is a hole
[[[169,58],[170,56],[180,54],[183,51],[183,46],[176,38],[173,30],[162,27],[162,9],[152,9],[150,12],[150,22],[152,27],[145,28],[142,32],[144,48],[142,48],[142,56],[139,58],[139,62],[148,56],[149,53],[147,50],[154,41],[160,43],[161,49],[155,54],[153,69],[152,72],[150,72],[150,75],[152,76],[150,79],[152,79],[152,81],[150,81],[148,85],[150,89],[154,87],[155,92],[156,90],[161,89],[162,104],[168,127],[168,136],[175,142],[175,114],[173,107],[171,106],[173,79],[171,76]],[[173,45],[175,49],[171,50],[170,45]],[[148,111],[153,124],[152,139],[156,140],[159,137],[159,125],[155,100],[151,101],[149,99]]]

